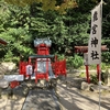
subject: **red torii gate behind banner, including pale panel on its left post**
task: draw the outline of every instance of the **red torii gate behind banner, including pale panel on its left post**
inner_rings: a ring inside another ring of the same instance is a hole
[[[101,52],[107,52],[109,48],[107,48],[107,45],[101,46]],[[90,77],[89,77],[89,65],[88,65],[88,46],[75,46],[75,53],[84,53],[85,58],[85,67],[86,67],[86,78],[87,82],[90,84]],[[97,77],[99,78],[99,72],[100,66],[97,64]]]

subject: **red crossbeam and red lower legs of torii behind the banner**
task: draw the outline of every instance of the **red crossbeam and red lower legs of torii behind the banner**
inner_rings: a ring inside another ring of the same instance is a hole
[[[101,46],[101,52],[106,52],[108,51],[109,48],[107,48],[107,45],[102,45]],[[75,46],[75,53],[87,53],[88,52],[88,46]],[[89,84],[90,82],[90,78],[89,78],[89,68],[88,68],[88,65],[85,65],[86,66],[86,76],[87,76],[87,82]],[[97,64],[97,76],[99,78],[99,64]]]

